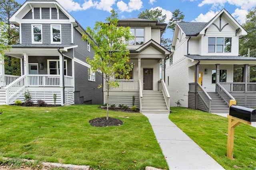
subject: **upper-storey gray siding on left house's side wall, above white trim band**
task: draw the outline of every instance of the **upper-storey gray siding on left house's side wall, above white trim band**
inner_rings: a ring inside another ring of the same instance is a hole
[[[93,59],[94,57],[94,52],[93,49],[91,47],[89,52],[87,50],[87,42],[82,40],[82,35],[75,29],[74,32],[74,43],[75,45],[78,45],[77,48],[74,49],[74,56],[82,61],[85,61],[87,57],[90,57],[91,59]]]

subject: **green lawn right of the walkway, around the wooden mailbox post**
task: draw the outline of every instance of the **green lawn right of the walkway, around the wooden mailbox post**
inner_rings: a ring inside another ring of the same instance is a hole
[[[203,111],[173,107],[170,120],[225,169],[256,169],[256,128],[241,123],[235,128],[234,160],[226,157],[228,119]]]

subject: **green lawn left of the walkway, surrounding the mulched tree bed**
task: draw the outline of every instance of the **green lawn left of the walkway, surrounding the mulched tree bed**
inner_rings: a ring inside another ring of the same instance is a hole
[[[97,107],[1,106],[0,156],[95,169],[168,168],[144,115],[110,111],[122,126],[91,127],[91,119],[106,116],[106,110]]]

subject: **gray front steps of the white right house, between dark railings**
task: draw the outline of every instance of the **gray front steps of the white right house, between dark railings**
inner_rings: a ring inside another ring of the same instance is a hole
[[[229,113],[228,104],[220,97],[218,93],[210,93],[208,95],[212,98],[211,113]]]

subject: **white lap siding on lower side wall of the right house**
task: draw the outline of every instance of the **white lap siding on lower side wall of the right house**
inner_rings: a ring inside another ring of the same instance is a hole
[[[188,59],[183,58],[166,69],[165,79],[169,76],[166,87],[170,94],[170,106],[177,106],[180,100],[182,107],[188,107]]]

